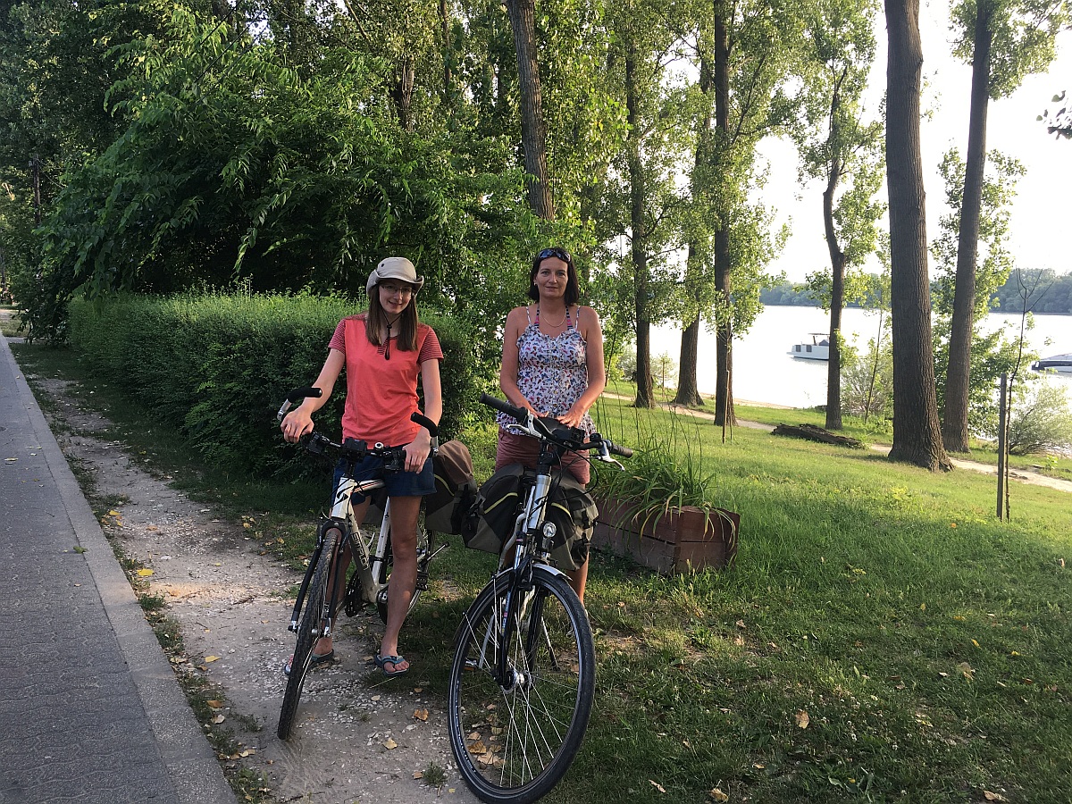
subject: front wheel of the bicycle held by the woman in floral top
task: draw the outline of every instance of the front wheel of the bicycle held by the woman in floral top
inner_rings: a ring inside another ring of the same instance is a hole
[[[520,615],[500,639],[510,578],[500,574],[459,628],[450,667],[450,747],[465,784],[490,804],[530,804],[569,769],[595,695],[595,651],[584,607],[556,571],[537,565]],[[505,651],[515,672],[493,674]]]

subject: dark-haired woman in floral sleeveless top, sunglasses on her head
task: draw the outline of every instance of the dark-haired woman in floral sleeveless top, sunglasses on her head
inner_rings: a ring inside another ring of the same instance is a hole
[[[516,407],[537,416],[554,416],[591,434],[595,427],[589,410],[607,384],[599,316],[592,308],[577,303],[577,268],[565,249],[545,249],[537,254],[528,285],[528,298],[535,303],[515,308],[506,316],[500,387]],[[495,468],[508,463],[535,467],[539,442],[507,432],[505,428],[511,423],[512,417],[500,414]],[[589,481],[590,466],[584,458],[567,453],[563,465],[581,483]],[[587,561],[568,575],[584,602]]]

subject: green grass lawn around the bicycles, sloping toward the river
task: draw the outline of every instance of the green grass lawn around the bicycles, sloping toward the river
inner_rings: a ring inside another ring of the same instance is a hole
[[[192,493],[236,518],[272,510],[282,549],[308,549],[317,494],[199,467],[68,352],[16,356],[81,383],[116,437],[159,471],[196,476]],[[822,423],[817,412],[738,416]],[[1069,801],[1072,495],[1014,482],[1012,521],[998,522],[993,478],[976,473],[747,428],[724,443],[709,421],[610,398],[597,419],[615,441],[661,436],[691,455],[712,502],[741,513],[740,553],[728,571],[673,577],[594,555],[595,708],[547,801]],[[465,441],[487,477],[492,429]],[[451,591],[433,584],[406,626],[441,691],[455,624],[493,563],[455,541],[434,568]]]

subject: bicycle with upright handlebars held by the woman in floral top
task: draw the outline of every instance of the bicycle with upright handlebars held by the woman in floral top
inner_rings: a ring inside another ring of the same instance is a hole
[[[567,451],[622,464],[630,449],[553,418],[537,418],[487,394],[480,401],[538,438],[538,468],[525,480],[498,570],[465,613],[450,667],[448,718],[458,769],[486,802],[527,804],[545,795],[574,761],[595,694],[587,614],[566,577],[549,564],[556,525],[548,519],[552,467]]]

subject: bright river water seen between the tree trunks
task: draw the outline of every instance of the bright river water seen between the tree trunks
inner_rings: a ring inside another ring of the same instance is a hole
[[[1018,334],[1019,317],[992,313],[986,317],[987,330],[1013,325],[1011,336]],[[766,307],[751,329],[733,343],[733,398],[738,401],[812,407],[827,403],[827,361],[790,357],[794,343],[810,342],[809,332],[830,329],[830,315],[814,307]],[[842,314],[845,338],[861,351],[878,332],[878,313],[855,308]],[[1037,315],[1034,329],[1027,333],[1031,348],[1042,357],[1072,353],[1072,316]],[[681,354],[680,327],[652,329],[652,357],[667,353],[676,364]],[[703,393],[715,392],[715,336],[700,330],[697,384]],[[658,377],[656,377],[658,382]],[[1055,379],[1064,384],[1072,397],[1072,375]],[[669,383],[668,383],[669,385]]]

